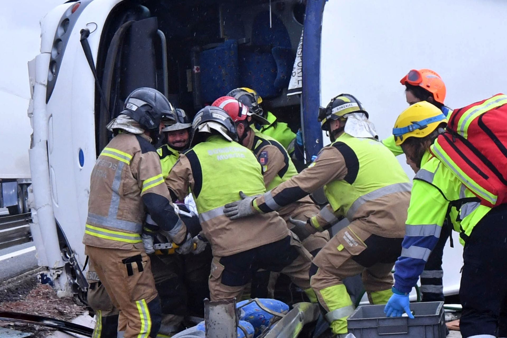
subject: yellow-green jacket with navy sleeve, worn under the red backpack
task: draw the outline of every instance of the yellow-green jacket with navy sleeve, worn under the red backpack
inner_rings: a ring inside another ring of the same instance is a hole
[[[415,286],[443,231],[442,224],[450,201],[465,198],[475,198],[475,195],[437,158],[426,152],[412,187],[402,255],[395,266],[396,289],[409,292]],[[459,210],[454,207],[449,210],[449,219],[454,230],[460,232],[462,244],[476,224],[491,210],[477,201],[466,201]]]

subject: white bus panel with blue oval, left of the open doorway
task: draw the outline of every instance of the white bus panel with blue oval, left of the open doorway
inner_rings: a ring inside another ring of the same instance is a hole
[[[55,218],[70,247],[76,252],[81,267],[86,259],[81,241],[96,151],[95,80],[80,43],[80,30],[90,30],[88,42],[96,61],[103,23],[118,2],[93,1],[81,13],[71,32],[47,104],[48,153]],[[51,34],[54,35],[54,32],[48,32],[48,35]]]

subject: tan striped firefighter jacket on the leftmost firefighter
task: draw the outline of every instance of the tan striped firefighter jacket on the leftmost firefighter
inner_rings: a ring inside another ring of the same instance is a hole
[[[115,136],[100,153],[90,179],[83,244],[130,249],[140,243],[145,207],[179,243],[186,227],[174,213],[155,147],[144,135]]]

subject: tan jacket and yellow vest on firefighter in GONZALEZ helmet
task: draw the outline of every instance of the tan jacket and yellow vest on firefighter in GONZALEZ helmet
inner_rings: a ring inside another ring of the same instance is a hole
[[[382,143],[348,134],[322,148],[301,173],[255,199],[253,207],[259,212],[278,210],[322,186],[331,214],[347,216],[379,236],[403,236],[411,186],[407,175]],[[318,217],[325,219],[336,217]],[[314,220],[312,225],[319,228]]]

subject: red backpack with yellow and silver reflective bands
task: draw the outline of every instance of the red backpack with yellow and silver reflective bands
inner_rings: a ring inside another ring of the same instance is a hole
[[[507,202],[507,95],[496,94],[449,117],[445,133],[430,148],[481,204]]]

